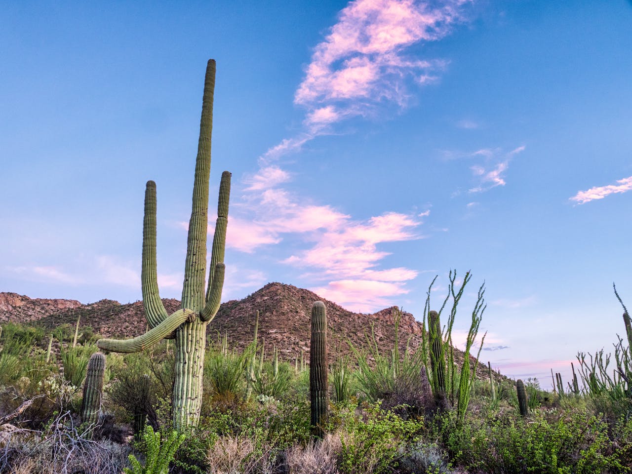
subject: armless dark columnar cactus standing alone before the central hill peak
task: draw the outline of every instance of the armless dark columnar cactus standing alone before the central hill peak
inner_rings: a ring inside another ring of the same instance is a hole
[[[327,415],[327,310],[325,303],[312,305],[312,334],[310,338],[310,401],[312,404],[312,433],[324,435],[323,423]]]

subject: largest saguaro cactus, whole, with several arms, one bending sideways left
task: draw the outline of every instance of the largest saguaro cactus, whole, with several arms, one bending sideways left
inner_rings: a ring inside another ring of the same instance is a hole
[[[155,183],[148,181],[145,190],[141,280],[143,307],[150,329],[142,336],[127,341],[100,339],[97,343],[99,348],[107,351],[131,353],[147,349],[165,337],[174,339],[175,381],[172,401],[173,425],[176,430],[195,427],[200,419],[206,327],[219,309],[224,284],[223,262],[231,177],[228,171],[222,173],[219,186],[208,286],[205,284],[215,69],[215,61],[210,59],[202,98],[200,139],[195,162],[193,205],[189,221],[181,309],[168,315],[159,295],[156,271]]]

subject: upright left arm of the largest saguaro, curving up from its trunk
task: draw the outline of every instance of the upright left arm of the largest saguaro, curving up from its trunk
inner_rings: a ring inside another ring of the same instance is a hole
[[[143,308],[149,327],[156,327],[167,319],[167,310],[158,291],[156,269],[156,183],[145,186],[145,215],[143,217],[143,263],[140,273],[143,290]]]

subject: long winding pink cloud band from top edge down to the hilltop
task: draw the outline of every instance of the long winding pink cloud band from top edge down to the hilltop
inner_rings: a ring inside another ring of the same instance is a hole
[[[260,156],[260,169],[245,179],[241,216],[231,217],[228,224],[229,247],[252,252],[292,234],[295,250],[283,262],[310,272],[304,276],[319,281],[313,289],[321,295],[356,309],[384,307],[390,297],[407,292],[406,281],[418,272],[382,268],[389,255],[382,247],[420,238],[415,229],[429,211],[353,219],[284,189],[291,176],[279,163],[313,138],[336,133],[335,125],[343,121],[381,117],[408,106],[413,91],[436,82],[447,64],[415,57],[411,46],[449,34],[464,20],[467,3],[355,0],[341,10],[337,23],[313,49],[296,89],[294,102],[305,110],[300,130]]]

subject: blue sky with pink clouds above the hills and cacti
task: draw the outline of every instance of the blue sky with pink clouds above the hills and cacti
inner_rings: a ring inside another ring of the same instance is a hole
[[[179,298],[214,58],[224,300],[281,281],[420,315],[435,274],[439,303],[471,269],[457,330],[484,280],[483,360],[545,387],[623,332],[632,3],[1,6],[0,291],[139,299],[154,179],[161,296]]]

